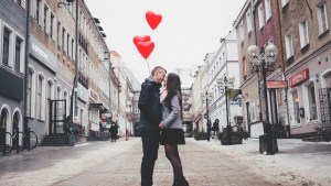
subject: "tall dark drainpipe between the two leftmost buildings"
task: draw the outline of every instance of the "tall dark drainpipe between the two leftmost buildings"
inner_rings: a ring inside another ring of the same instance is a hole
[[[31,9],[31,1],[26,0],[25,1],[25,51],[24,51],[24,77],[23,77],[23,129],[24,132],[28,132],[28,117],[26,117],[26,110],[28,110],[28,94],[26,94],[26,89],[28,89],[28,84],[29,84],[29,43],[30,43],[30,9]]]

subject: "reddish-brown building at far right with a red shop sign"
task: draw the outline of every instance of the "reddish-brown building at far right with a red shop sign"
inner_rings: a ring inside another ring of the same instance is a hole
[[[290,134],[330,130],[331,3],[278,0]],[[288,19],[291,18],[291,19]]]

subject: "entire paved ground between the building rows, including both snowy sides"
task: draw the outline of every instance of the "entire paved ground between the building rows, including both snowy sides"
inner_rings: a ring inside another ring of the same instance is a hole
[[[191,186],[328,186],[331,143],[279,140],[276,155],[258,153],[258,140],[242,145],[186,139],[180,145],[184,175]],[[0,185],[139,186],[141,141],[88,142],[74,147],[39,146],[0,156]],[[274,184],[273,184],[274,183]],[[160,146],[154,185],[172,184],[172,168]]]

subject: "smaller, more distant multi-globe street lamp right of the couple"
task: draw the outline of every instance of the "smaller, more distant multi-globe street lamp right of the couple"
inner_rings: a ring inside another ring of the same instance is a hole
[[[225,107],[226,107],[226,144],[231,144],[231,123],[228,121],[228,101],[227,101],[227,94],[229,92],[228,88],[233,87],[234,85],[234,77],[227,78],[226,75],[217,79],[217,87],[221,92],[225,94]],[[222,143],[223,144],[223,143]]]

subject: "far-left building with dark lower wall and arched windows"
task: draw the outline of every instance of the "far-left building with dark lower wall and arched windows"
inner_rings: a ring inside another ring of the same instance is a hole
[[[0,128],[10,133],[24,130],[25,19],[25,1],[0,2]]]

